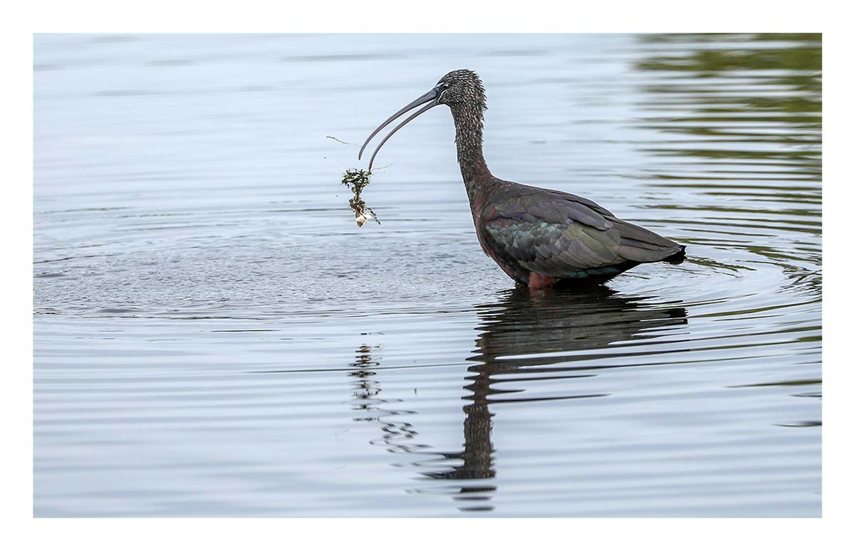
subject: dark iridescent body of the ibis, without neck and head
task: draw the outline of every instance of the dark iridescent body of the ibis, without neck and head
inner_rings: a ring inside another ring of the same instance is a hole
[[[593,201],[490,176],[470,196],[481,247],[529,287],[604,281],[643,262],[680,255],[677,243]]]

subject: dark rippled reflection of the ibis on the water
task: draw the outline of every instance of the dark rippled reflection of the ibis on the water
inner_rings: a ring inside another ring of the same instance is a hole
[[[527,382],[594,377],[598,369],[622,365],[615,359],[625,355],[626,350],[610,344],[657,337],[660,332],[656,330],[687,323],[686,309],[679,305],[663,304],[648,296],[621,296],[604,286],[540,291],[516,288],[506,292],[498,303],[475,309],[481,332],[475,340],[475,355],[467,358],[476,363],[469,366],[463,386],[463,400],[467,402],[463,406],[463,449],[436,452],[424,444],[401,446],[392,442],[396,438],[411,441],[418,434],[410,423],[384,422],[391,426],[383,429],[383,443],[391,447],[390,451],[416,452],[421,456],[407,465],[421,468],[422,475],[466,481],[412,491],[451,494],[456,501],[465,502],[459,503],[458,509],[466,512],[493,509],[490,500],[497,486],[488,483],[496,477],[492,445],[495,413],[490,410],[491,404],[608,396],[579,393],[526,398],[521,393]],[[580,356],[583,350],[585,354]],[[581,358],[586,360],[586,366],[574,366],[574,360]],[[598,361],[601,365],[591,366],[590,360],[602,360]],[[507,377],[509,374],[513,377]],[[495,388],[497,377],[503,375],[503,388]],[[377,384],[372,384],[371,388],[376,388]],[[507,388],[509,384],[516,388]],[[566,385],[560,388],[566,389]],[[376,396],[366,394],[364,399],[376,400]]]

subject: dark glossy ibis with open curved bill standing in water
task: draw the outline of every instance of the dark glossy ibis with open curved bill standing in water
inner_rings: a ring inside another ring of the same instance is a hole
[[[645,262],[682,260],[686,247],[616,218],[597,203],[570,193],[498,179],[481,151],[486,96],[478,75],[458,69],[428,93],[377,127],[363,151],[383,128],[410,109],[426,104],[380,142],[369,161],[410,120],[437,105],[451,108],[457,162],[481,248],[517,283],[541,289],[572,282],[602,282]]]

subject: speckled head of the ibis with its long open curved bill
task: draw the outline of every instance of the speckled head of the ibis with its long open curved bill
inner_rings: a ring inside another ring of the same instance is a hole
[[[433,88],[430,89],[427,93],[422,94],[422,96],[417,97],[412,102],[405,105],[403,108],[400,108],[397,113],[393,114],[391,117],[386,119],[383,124],[377,126],[374,132],[371,132],[371,135],[367,140],[365,140],[365,144],[363,144],[363,148],[359,149],[359,158],[363,158],[363,152],[365,148],[368,146],[371,138],[377,135],[378,132],[386,128],[393,120],[397,119],[402,114],[410,111],[410,109],[416,108],[419,105],[425,104],[424,107],[416,111],[416,113],[410,114],[409,117],[404,119],[404,122],[395,126],[392,129],[392,132],[389,132],[386,138],[383,138],[383,141],[380,142],[380,145],[377,146],[377,149],[374,149],[374,154],[371,155],[371,160],[369,161],[369,171],[371,170],[372,165],[374,164],[374,157],[377,156],[377,152],[380,151],[380,148],[383,147],[383,144],[386,144],[386,140],[392,138],[392,134],[398,132],[405,124],[410,122],[410,120],[415,119],[420,114],[424,113],[428,109],[434,108],[437,105],[447,105],[451,108],[452,111],[456,109],[462,108],[473,108],[475,111],[475,116],[481,117],[481,112],[486,109],[486,96],[484,94],[484,85],[481,84],[481,79],[478,78],[478,75],[475,74],[475,71],[470,71],[469,69],[457,69],[456,71],[451,71],[451,73],[446,74],[443,78],[439,79],[439,82],[436,83]]]

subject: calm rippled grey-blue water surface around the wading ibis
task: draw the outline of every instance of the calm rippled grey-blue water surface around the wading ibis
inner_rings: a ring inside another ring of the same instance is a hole
[[[39,35],[34,514],[821,514],[821,44],[803,35]],[[481,253],[500,178],[688,246],[598,290]],[[362,165],[363,166],[363,165]]]

